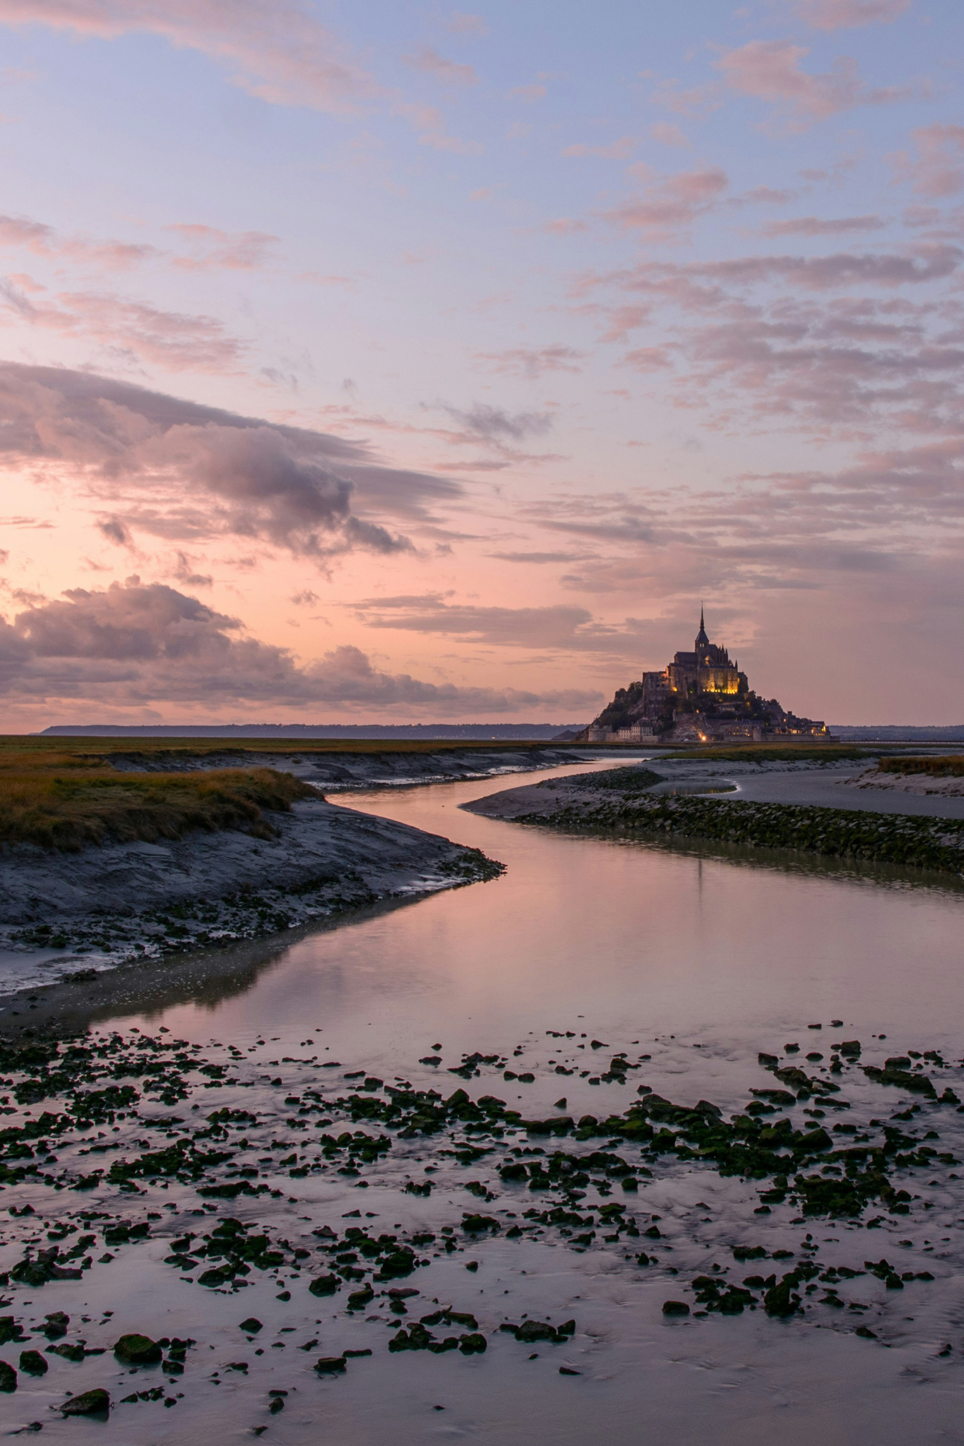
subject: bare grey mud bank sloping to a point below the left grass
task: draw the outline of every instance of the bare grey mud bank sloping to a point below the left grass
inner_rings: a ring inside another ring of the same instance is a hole
[[[324,798],[275,811],[270,824],[79,853],[7,847],[0,992],[273,936],[500,872],[477,850]]]

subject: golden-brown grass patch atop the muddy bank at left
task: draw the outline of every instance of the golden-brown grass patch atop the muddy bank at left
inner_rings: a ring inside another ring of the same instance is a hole
[[[27,755],[30,756],[30,755]],[[77,850],[106,840],[179,839],[188,829],[244,829],[272,837],[263,810],[317,798],[272,768],[192,774],[119,774],[101,761],[32,755],[32,768],[0,763],[0,843]],[[23,763],[23,759],[20,759]]]

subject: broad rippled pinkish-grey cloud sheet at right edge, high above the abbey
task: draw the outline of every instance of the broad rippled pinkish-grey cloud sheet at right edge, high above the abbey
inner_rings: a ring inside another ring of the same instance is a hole
[[[624,364],[672,364],[666,401],[700,409],[708,428],[934,434],[960,431],[964,415],[963,262],[952,244],[643,262],[584,276],[577,295],[614,285],[639,299],[649,344]]]

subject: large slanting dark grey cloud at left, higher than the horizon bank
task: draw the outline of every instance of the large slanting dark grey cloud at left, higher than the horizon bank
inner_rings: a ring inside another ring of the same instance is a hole
[[[448,479],[382,466],[363,441],[13,362],[0,363],[0,455],[82,476],[113,503],[111,541],[136,526],[302,555],[393,552],[408,541],[366,512],[428,521],[431,505],[461,495]]]

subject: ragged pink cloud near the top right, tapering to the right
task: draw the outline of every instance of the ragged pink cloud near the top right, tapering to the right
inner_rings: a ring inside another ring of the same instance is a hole
[[[812,75],[801,69],[806,55],[806,46],[789,40],[750,40],[721,55],[714,65],[739,94],[775,101],[796,130],[854,106],[882,106],[915,93],[908,87],[867,90],[850,56],[840,56],[831,71]]]

